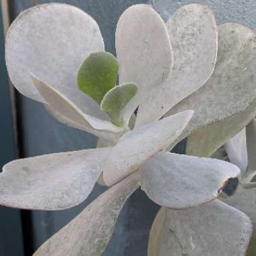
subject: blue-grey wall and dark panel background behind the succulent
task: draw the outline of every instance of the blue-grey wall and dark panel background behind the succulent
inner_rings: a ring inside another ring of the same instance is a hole
[[[38,3],[53,1],[38,0]],[[106,51],[115,54],[115,26],[121,13],[130,5],[150,3],[164,20],[179,7],[188,3],[209,5],[218,24],[238,22],[256,31],[255,0],[66,0],[84,9],[98,22]],[[37,156],[53,152],[94,148],[96,137],[66,127],[51,117],[42,104],[13,90],[7,77],[4,61],[4,38],[9,24],[20,11],[34,6],[32,0],[1,0],[0,5],[0,167],[15,158]],[[183,153],[185,141],[174,150]],[[13,210],[0,207],[0,256],[27,256],[69,220],[79,214],[88,203],[104,191],[96,185],[90,197],[70,210],[42,212]],[[158,205],[142,191],[136,191],[127,201],[117,221],[113,238],[103,256],[146,256],[148,234]]]

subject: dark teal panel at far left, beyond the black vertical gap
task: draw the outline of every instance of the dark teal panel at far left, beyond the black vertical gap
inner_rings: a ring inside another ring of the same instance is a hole
[[[15,149],[9,85],[4,64],[3,26],[0,5],[0,167],[17,156]],[[15,246],[13,246],[15,243]],[[0,255],[23,255],[20,210],[0,207]]]

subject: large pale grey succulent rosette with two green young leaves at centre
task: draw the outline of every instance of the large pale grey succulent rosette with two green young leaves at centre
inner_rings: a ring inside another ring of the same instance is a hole
[[[139,187],[162,205],[148,255],[245,255],[251,220],[216,199],[241,171],[209,157],[255,116],[255,46],[249,28],[217,27],[199,4],[181,7],[166,24],[150,5],[129,7],[117,24],[117,58],[76,7],[22,12],[6,38],[11,82],[99,141],[96,149],[5,165],[0,204],[63,210],[82,203],[97,180],[109,187],[35,255],[101,255]],[[193,156],[168,152],[187,136]]]

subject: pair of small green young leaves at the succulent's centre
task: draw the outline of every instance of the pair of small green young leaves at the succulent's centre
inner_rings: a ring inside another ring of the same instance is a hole
[[[91,53],[77,73],[77,85],[108,114],[114,125],[126,125],[124,110],[137,93],[133,83],[116,86],[119,65],[117,59],[106,52]]]

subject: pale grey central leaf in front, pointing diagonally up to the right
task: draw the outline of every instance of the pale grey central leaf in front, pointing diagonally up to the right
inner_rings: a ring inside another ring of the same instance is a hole
[[[193,110],[143,125],[123,135],[104,165],[104,182],[113,185],[139,166],[166,148],[189,123]]]

